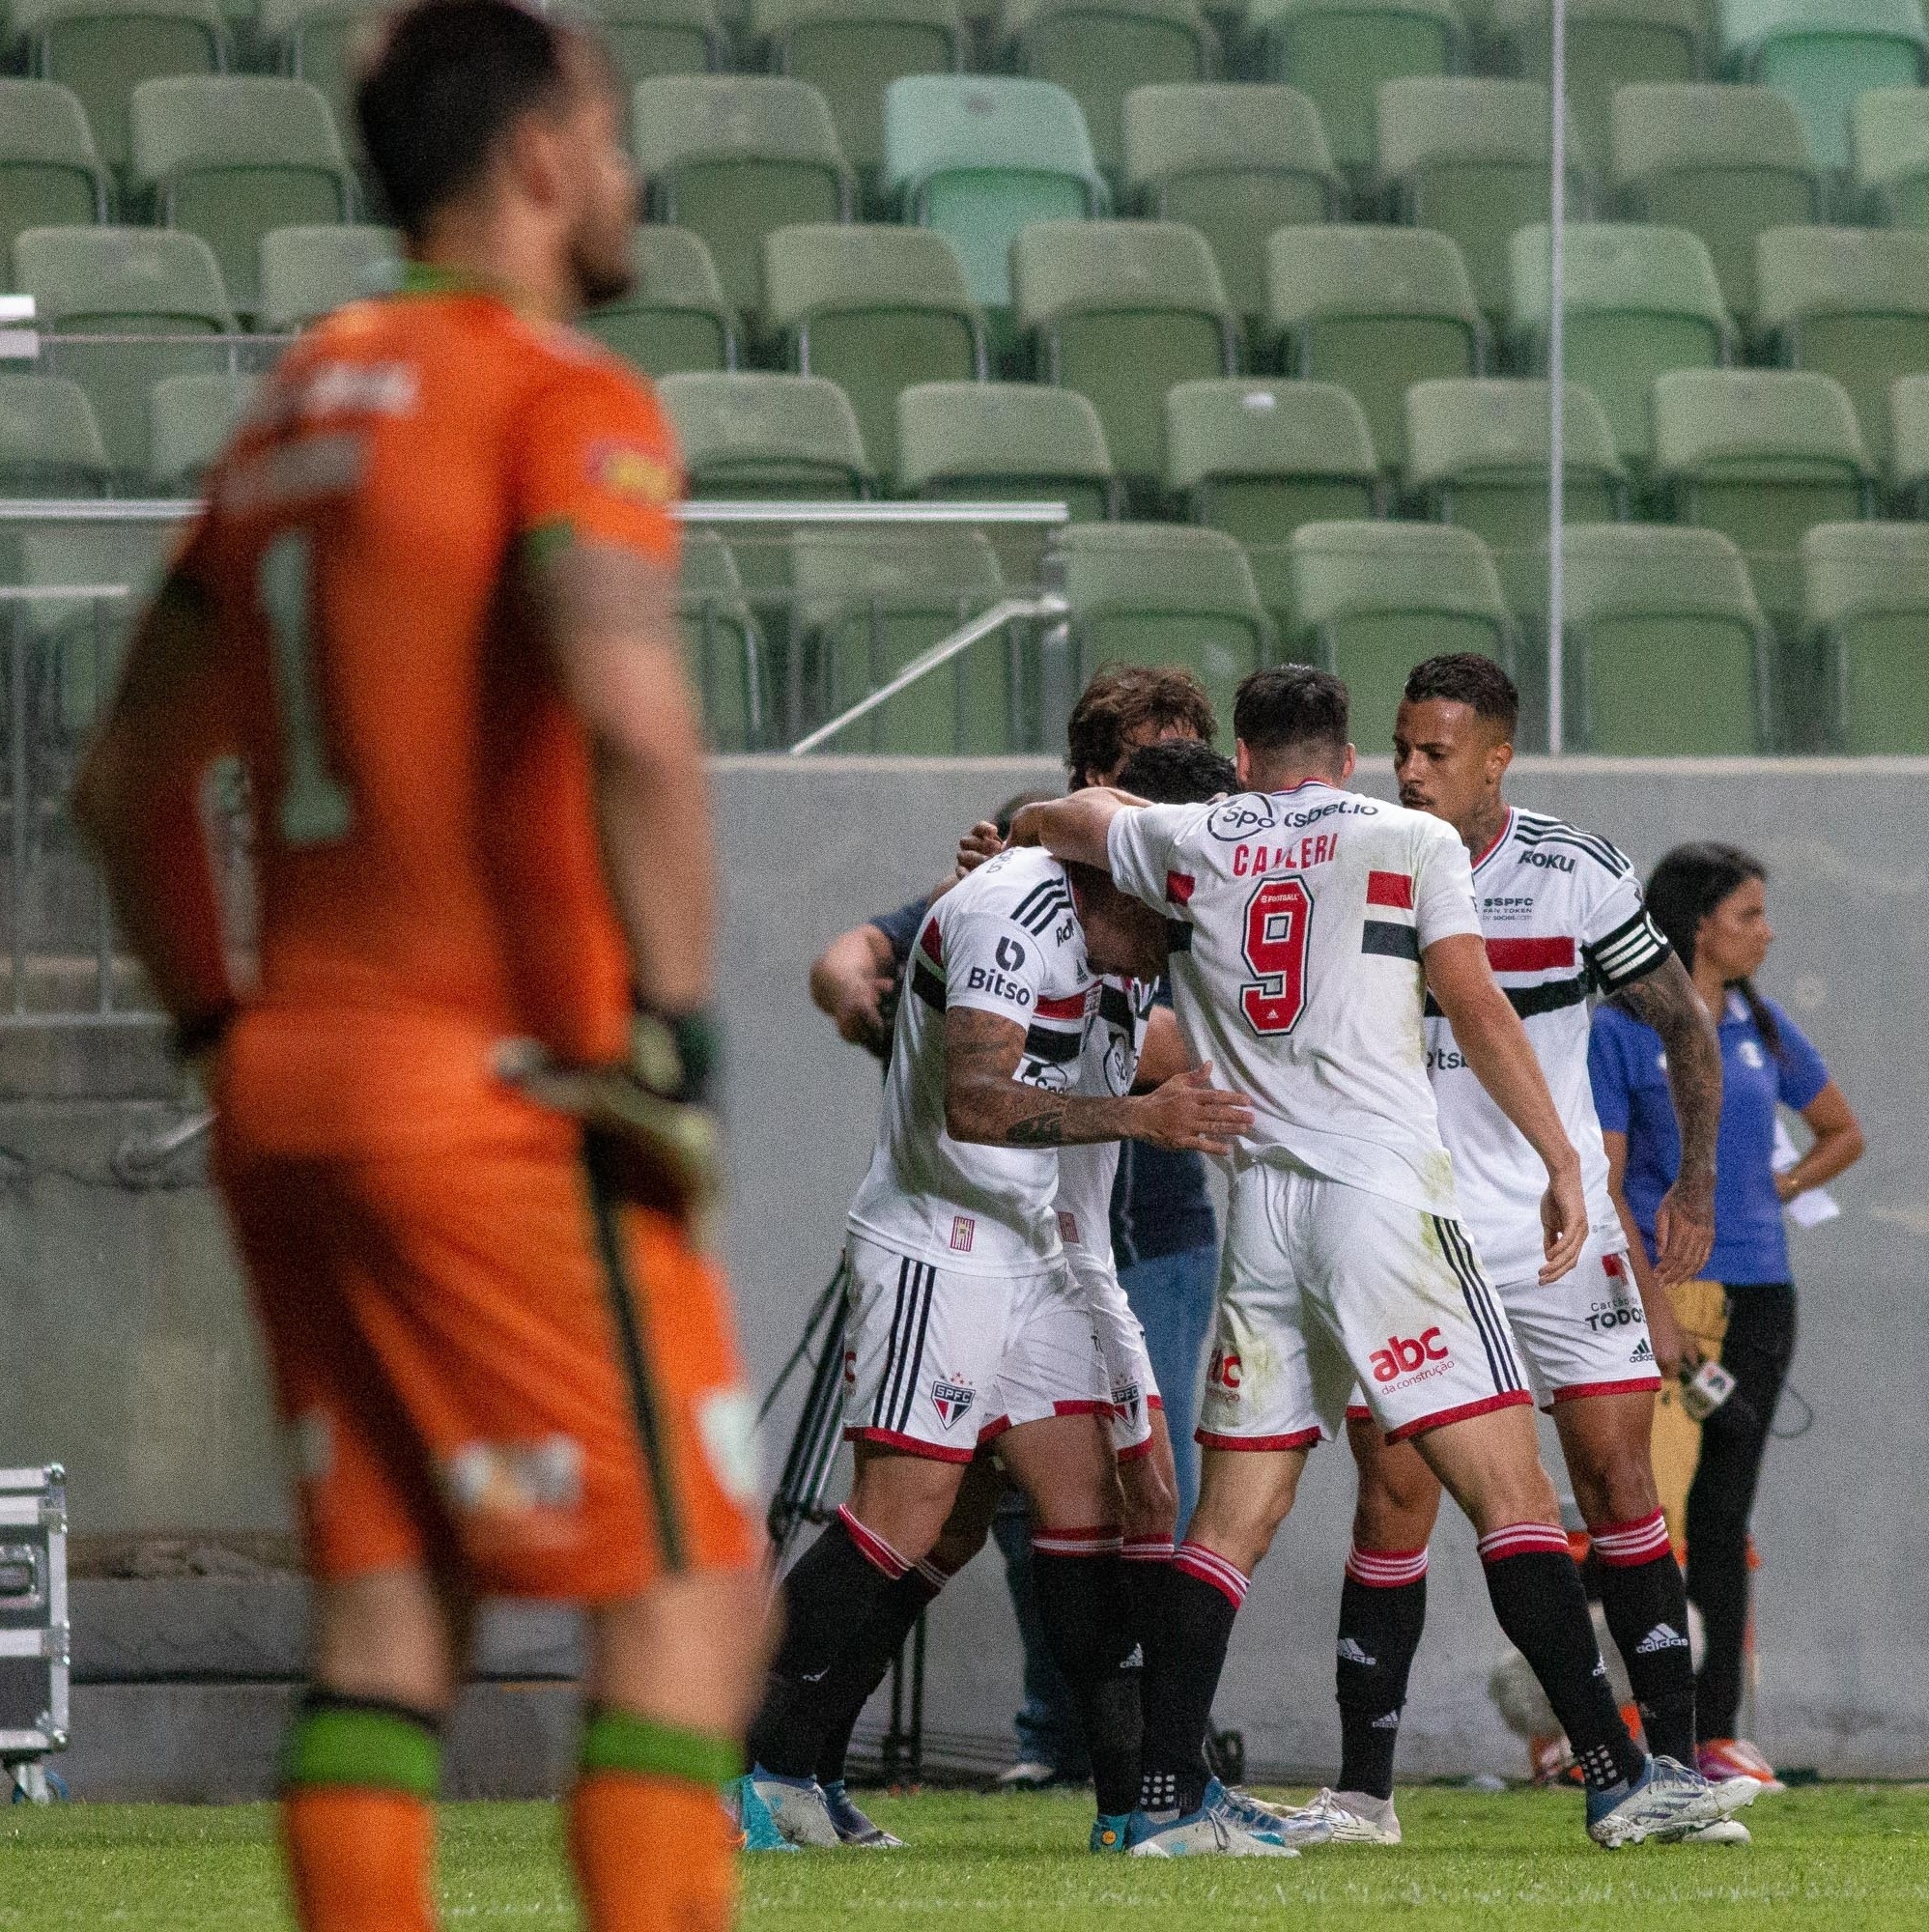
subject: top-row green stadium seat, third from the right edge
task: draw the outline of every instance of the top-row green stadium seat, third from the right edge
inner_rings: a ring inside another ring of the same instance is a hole
[[[1467,64],[1452,0],[1251,0],[1247,27],[1266,79],[1312,100],[1334,160],[1359,187],[1372,174],[1380,83]]]

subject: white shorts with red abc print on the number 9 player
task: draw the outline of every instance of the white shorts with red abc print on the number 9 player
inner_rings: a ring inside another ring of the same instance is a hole
[[[1227,1200],[1198,1441],[1309,1449],[1355,1385],[1394,1439],[1533,1401],[1457,1221],[1256,1161]]]

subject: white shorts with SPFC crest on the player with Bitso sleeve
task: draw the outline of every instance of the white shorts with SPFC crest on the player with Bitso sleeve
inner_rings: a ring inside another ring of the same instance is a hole
[[[850,1235],[845,1439],[968,1463],[1050,1416],[1111,1414],[1111,1378],[1071,1267],[959,1275]]]

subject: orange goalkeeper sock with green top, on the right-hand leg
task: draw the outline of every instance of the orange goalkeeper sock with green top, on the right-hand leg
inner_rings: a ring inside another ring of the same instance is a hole
[[[719,1785],[734,1745],[599,1710],[570,1793],[570,1862],[588,1932],[729,1932],[736,1830]]]

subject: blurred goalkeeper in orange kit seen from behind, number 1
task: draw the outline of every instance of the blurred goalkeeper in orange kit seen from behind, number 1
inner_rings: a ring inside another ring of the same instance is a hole
[[[75,813],[207,1066],[298,1461],[300,1922],[435,1924],[470,1605],[516,1594],[590,1605],[586,1924],[709,1932],[762,1546],[700,1244],[715,867],[673,628],[677,452],[644,384],[566,327],[628,282],[620,106],[582,35],[425,0],[358,110],[404,288],[265,384]],[[199,813],[230,753],[255,811],[245,991]]]

